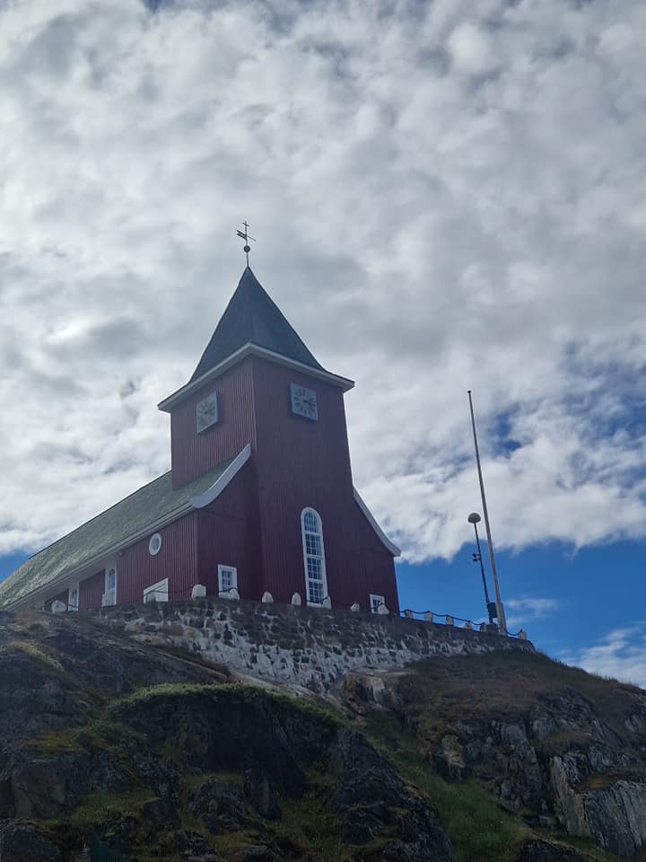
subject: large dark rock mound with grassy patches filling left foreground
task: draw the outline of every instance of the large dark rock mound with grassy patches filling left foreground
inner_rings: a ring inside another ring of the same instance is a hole
[[[310,858],[310,821],[330,858],[453,862],[428,803],[330,715],[75,621],[0,637],[2,862],[75,862],[94,831],[132,859],[284,862]]]

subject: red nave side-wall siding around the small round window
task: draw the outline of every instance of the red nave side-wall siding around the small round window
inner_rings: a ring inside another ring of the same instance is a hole
[[[117,602],[143,602],[144,589],[169,579],[169,599],[190,598],[197,581],[197,513],[158,530],[162,549],[154,557],[150,536],[137,541],[117,558]]]

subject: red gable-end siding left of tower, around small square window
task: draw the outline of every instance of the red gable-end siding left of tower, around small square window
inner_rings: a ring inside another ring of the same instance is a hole
[[[200,584],[218,592],[218,564],[238,569],[238,591],[259,599],[263,592],[255,463],[247,462],[214,502],[198,515]]]

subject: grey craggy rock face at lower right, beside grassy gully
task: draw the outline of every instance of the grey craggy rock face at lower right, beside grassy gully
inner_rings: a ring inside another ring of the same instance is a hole
[[[579,741],[555,754],[563,723]],[[429,756],[449,778],[475,775],[485,781],[503,807],[532,813],[528,822],[558,823],[572,835],[631,856],[646,846],[646,766],[621,751],[596,717],[578,726],[565,718],[563,723],[554,723],[554,735],[545,736],[536,727],[549,725],[546,715],[512,724],[485,717],[461,721],[459,734],[441,736]]]

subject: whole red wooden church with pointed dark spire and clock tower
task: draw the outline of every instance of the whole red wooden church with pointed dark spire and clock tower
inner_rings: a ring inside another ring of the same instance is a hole
[[[84,610],[195,590],[397,611],[399,551],[352,481],[353,386],[319,365],[247,267],[195,373],[159,405],[171,470],[27,560],[0,605]]]

